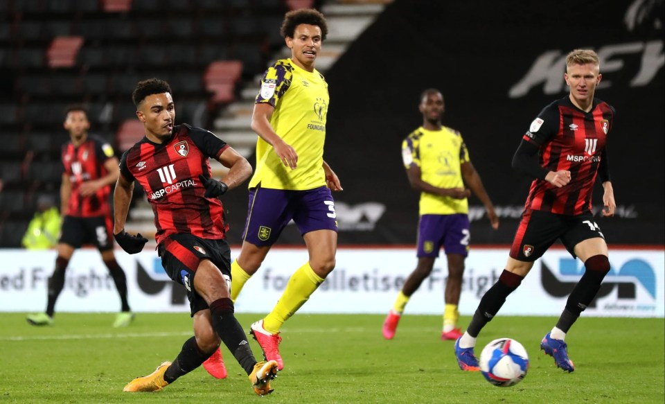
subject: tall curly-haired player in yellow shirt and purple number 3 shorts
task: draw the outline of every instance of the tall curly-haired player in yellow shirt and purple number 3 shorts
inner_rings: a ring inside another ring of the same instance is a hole
[[[263,355],[276,360],[280,370],[281,326],[335,267],[337,222],[330,191],[342,191],[342,186],[323,161],[328,83],[314,69],[327,34],[321,12],[303,8],[286,13],[281,35],[291,58],[278,60],[264,73],[251,117],[259,137],[256,172],[249,182],[242,247],[231,265],[231,299],[236,301],[291,220],[310,257],[292,274],[272,311],[251,325]]]

